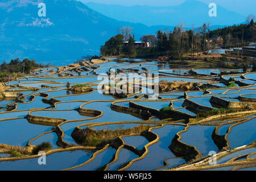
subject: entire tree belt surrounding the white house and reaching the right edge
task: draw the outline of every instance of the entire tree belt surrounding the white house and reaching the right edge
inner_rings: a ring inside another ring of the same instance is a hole
[[[101,46],[102,56],[139,56],[139,55],[171,55],[172,57],[200,56],[218,45],[216,37],[223,39],[222,46],[237,47],[246,46],[248,42],[256,41],[256,26],[254,18],[249,17],[247,24],[218,28],[210,31],[210,24],[202,27],[192,27],[186,30],[184,24],[180,23],[174,31],[159,30],[155,35],[143,35],[142,42],[148,42],[150,47],[142,48],[134,46],[134,36],[131,35],[132,28],[123,27],[119,34],[110,38],[104,46]],[[128,42],[124,47],[123,42]]]

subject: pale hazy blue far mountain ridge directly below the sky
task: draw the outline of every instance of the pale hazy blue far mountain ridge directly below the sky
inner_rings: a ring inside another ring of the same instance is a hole
[[[85,5],[110,18],[143,23],[147,26],[176,26],[180,22],[184,22],[186,27],[191,27],[193,24],[199,27],[207,22],[212,26],[233,25],[245,22],[246,19],[245,16],[221,6],[217,6],[217,17],[210,17],[209,5],[196,0],[187,0],[178,6],[165,7],[104,5],[93,2]]]

